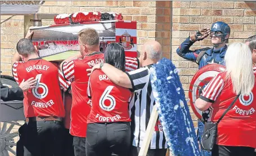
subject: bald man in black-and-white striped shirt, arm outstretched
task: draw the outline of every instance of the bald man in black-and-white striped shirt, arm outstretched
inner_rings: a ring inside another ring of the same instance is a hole
[[[107,63],[97,64],[91,69],[92,71],[96,69],[102,70],[112,82],[119,86],[130,88],[131,91],[135,92],[135,96],[129,104],[132,120],[131,131],[133,134],[130,156],[138,156],[143,144],[145,130],[148,126],[153,105],[155,105],[149,69],[161,59],[161,56],[161,44],[157,41],[149,41],[143,45],[142,52],[140,52],[139,61],[142,65],[140,69],[125,73]],[[157,121],[147,156],[165,156],[166,150],[167,142],[162,131],[162,125],[160,121]]]

